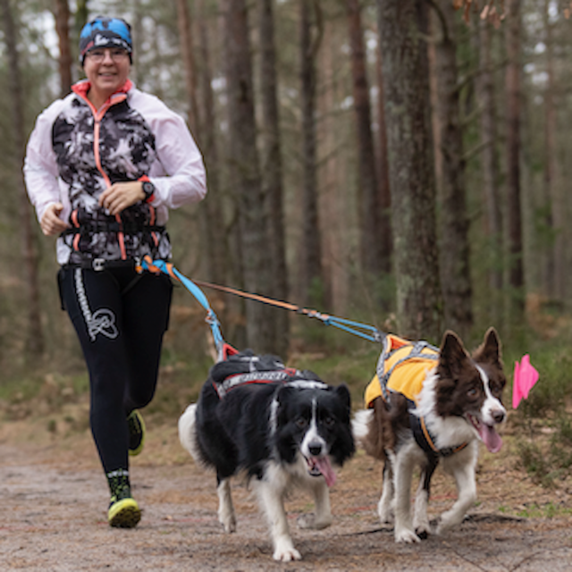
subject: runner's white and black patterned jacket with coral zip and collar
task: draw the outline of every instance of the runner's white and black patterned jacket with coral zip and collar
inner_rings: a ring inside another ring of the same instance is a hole
[[[88,101],[88,89],[88,81],[80,81],[38,116],[24,164],[38,220],[60,202],[61,216],[71,224],[57,240],[58,263],[147,254],[168,259],[168,209],[206,194],[198,147],[180,115],[130,80],[99,110]],[[121,217],[97,203],[115,182],[147,180],[156,188],[152,200],[130,206]]]

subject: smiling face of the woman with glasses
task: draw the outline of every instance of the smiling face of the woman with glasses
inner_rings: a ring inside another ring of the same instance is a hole
[[[127,81],[130,58],[122,48],[97,48],[88,52],[83,68],[90,83],[89,101],[99,109]]]

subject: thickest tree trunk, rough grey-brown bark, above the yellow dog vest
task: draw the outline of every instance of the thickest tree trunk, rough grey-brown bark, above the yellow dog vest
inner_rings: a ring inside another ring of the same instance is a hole
[[[423,0],[378,0],[400,333],[437,341],[442,293],[435,228]]]

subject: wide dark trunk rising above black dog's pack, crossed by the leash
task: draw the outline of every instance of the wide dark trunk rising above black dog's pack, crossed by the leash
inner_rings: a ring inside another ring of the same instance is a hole
[[[265,197],[260,178],[254,114],[252,62],[248,38],[248,9],[244,0],[225,0],[224,43],[229,112],[229,159],[236,192],[244,287],[249,292],[270,291],[271,269],[265,222]],[[248,345],[257,353],[273,351],[275,308],[246,302]]]

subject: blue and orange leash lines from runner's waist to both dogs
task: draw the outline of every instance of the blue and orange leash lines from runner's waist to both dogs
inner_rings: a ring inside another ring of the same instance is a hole
[[[378,330],[373,325],[361,324],[359,322],[355,322],[354,320],[348,320],[346,318],[340,318],[334,315],[323,314],[317,310],[312,310],[306,307],[299,307],[295,304],[290,304],[289,302],[282,302],[280,300],[266,298],[265,296],[260,296],[258,294],[250,294],[242,290],[229,288],[228,286],[211,284],[210,282],[202,282],[199,280],[195,280],[193,282],[181,274],[171,263],[166,263],[164,260],[152,260],[151,257],[144,257],[139,268],[141,270],[148,270],[149,272],[154,273],[163,272],[172,276],[172,278],[179,280],[187,288],[187,290],[189,290],[189,292],[193,294],[196,299],[198,299],[198,302],[206,309],[206,322],[211,326],[214,343],[219,353],[222,351],[224,345],[223,336],[219,327],[220,323],[214,314],[214,311],[209,306],[205,294],[203,294],[202,290],[198,288],[198,285],[210,288],[212,290],[219,290],[234,296],[239,296],[240,298],[262,302],[263,304],[268,304],[270,306],[282,307],[283,309],[290,310],[291,312],[297,312],[298,314],[307,315],[307,317],[316,318],[326,325],[332,325],[340,330],[343,330],[344,332],[353,333],[354,335],[363,338],[364,340],[373,341],[374,343],[383,343],[383,340],[387,335],[386,333]]]

